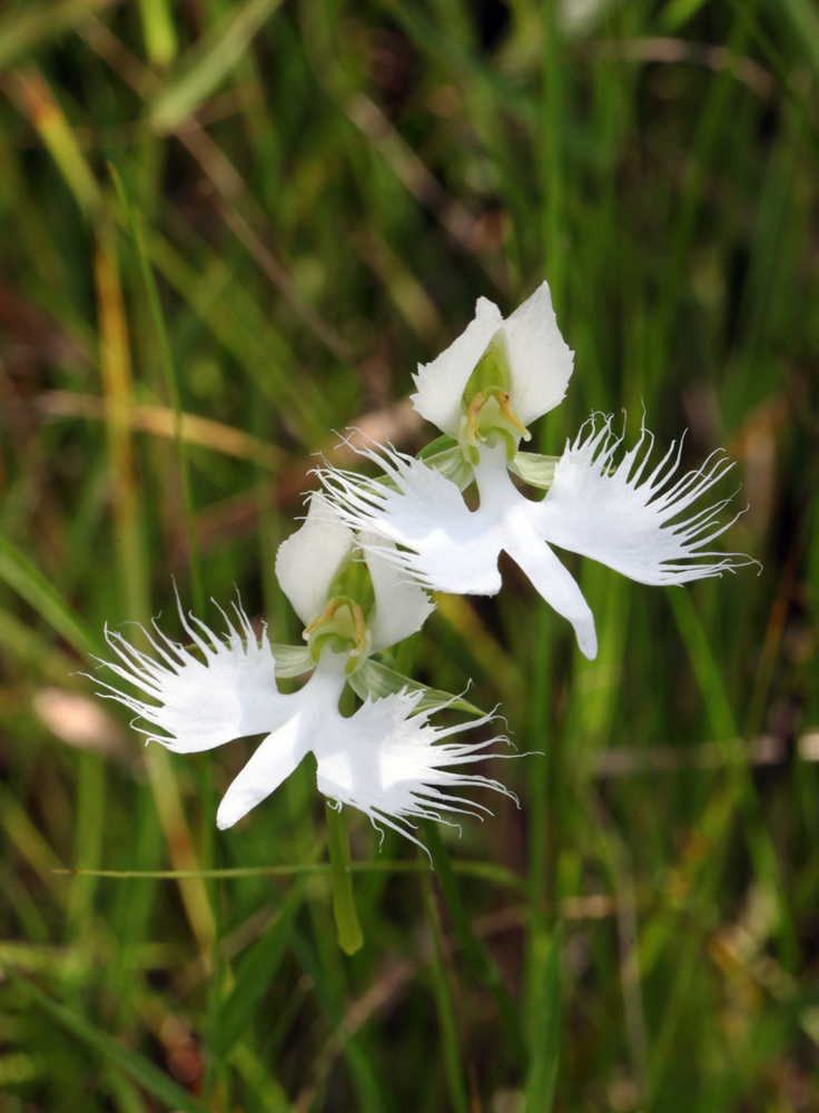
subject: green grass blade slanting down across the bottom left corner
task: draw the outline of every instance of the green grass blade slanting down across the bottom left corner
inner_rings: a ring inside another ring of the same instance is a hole
[[[30,999],[36,1002],[48,1015],[55,1020],[70,1035],[81,1040],[85,1044],[97,1052],[106,1062],[118,1066],[129,1077],[134,1078],[144,1090],[152,1094],[170,1110],[180,1110],[181,1113],[203,1113],[203,1106],[195,1101],[187,1090],[174,1082],[164,1071],[154,1066],[139,1052],[126,1047],[114,1036],[109,1036],[96,1025],[91,1024],[82,1016],[66,1008],[58,1002],[38,989],[33,983],[19,974],[13,966],[0,964],[6,974],[12,979],[17,987]]]

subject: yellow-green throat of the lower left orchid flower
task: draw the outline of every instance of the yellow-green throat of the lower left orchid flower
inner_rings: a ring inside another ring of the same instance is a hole
[[[363,560],[349,559],[341,569],[328,592],[327,605],[304,630],[310,658],[318,664],[322,650],[328,646],[334,653],[347,653],[344,671],[357,672],[372,652],[372,634],[367,618],[373,611],[375,592]]]

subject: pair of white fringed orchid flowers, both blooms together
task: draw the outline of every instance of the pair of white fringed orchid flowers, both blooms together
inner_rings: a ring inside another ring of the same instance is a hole
[[[748,562],[709,548],[728,528],[717,518],[727,500],[682,518],[731,466],[722,456],[678,479],[672,445],[645,474],[651,434],[643,429],[615,464],[622,439],[611,417],[595,416],[560,459],[520,451],[527,426],[562,401],[572,365],[545,283],[505,322],[491,302],[477,302],[463,335],[415,376],[415,408],[444,436],[418,459],[363,442],[362,455],[386,472],[381,479],[320,469],[326,494],[310,496],[304,524],[278,550],[276,575],[306,647],[272,646],[266,631],[259,641],[238,604],[233,621],[223,611],[223,638],[179,607],[190,644],[156,628],[155,657],[106,630],[118,658],[110,669],[140,695],[110,684],[101,695],[147,722],[149,741],[190,754],[267,735],[226,792],[220,828],[269,796],[308,751],[320,792],[413,841],[412,818],[486,810],[452,789],[506,792],[461,771],[499,738],[445,741],[464,726],[436,727],[430,715],[455,697],[408,682],[372,657],[421,629],[434,609],[427,591],[495,594],[502,549],[573,624],[589,658],[596,653],[594,619],[550,543],[642,583],[682,583]],[[545,496],[524,496],[510,472]],[[475,511],[462,495],[473,481]],[[277,677],[309,670],[297,692],[278,690]],[[363,699],[348,718],[338,710],[346,683]],[[491,721],[482,716],[474,725]]]

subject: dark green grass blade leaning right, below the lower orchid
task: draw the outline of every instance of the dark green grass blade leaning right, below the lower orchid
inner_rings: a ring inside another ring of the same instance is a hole
[[[250,1023],[254,1008],[275,978],[285,955],[293,920],[303,899],[304,885],[297,883],[287,895],[276,918],[241,963],[230,996],[219,1008],[218,1027],[210,1037],[210,1047],[217,1057],[227,1055],[234,1044],[241,1038]]]

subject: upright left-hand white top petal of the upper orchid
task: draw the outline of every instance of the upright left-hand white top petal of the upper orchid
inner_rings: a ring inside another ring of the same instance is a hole
[[[420,364],[418,373],[413,375],[418,392],[411,396],[413,405],[422,417],[450,436],[457,436],[470,375],[502,324],[497,306],[478,297],[475,317],[466,329],[432,363]]]

